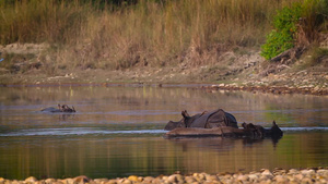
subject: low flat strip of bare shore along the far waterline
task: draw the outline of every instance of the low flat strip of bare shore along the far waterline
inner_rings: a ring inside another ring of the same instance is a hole
[[[268,76],[251,74],[258,65],[245,71],[225,74],[222,77],[215,66],[202,68],[133,68],[130,70],[85,70],[61,71],[46,74],[33,70],[24,74],[0,74],[0,87],[43,87],[43,86],[188,86],[218,90],[245,90],[251,93],[328,95],[328,69],[278,72]],[[318,69],[319,66],[317,66]],[[208,72],[212,71],[212,72]],[[229,73],[229,72],[227,72]],[[218,78],[219,77],[219,78]],[[192,84],[192,85],[186,85]]]

